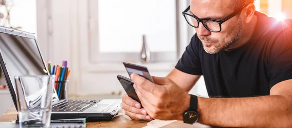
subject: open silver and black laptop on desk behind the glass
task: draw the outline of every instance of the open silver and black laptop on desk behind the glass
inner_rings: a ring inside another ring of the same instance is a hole
[[[0,26],[0,66],[16,110],[18,109],[14,77],[49,75],[34,34],[2,26]],[[122,100],[59,100],[55,89],[52,95],[52,120],[69,118],[111,120],[122,110],[120,107]]]

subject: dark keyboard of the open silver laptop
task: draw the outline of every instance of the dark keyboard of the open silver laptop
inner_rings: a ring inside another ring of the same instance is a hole
[[[87,107],[91,107],[97,102],[99,102],[99,100],[66,100],[56,105],[53,105],[53,112],[80,112]]]

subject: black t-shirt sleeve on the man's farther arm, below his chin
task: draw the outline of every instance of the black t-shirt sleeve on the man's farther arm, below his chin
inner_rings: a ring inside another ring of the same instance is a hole
[[[183,56],[175,66],[176,69],[192,75],[202,75],[198,45],[199,38],[194,35],[186,47]]]

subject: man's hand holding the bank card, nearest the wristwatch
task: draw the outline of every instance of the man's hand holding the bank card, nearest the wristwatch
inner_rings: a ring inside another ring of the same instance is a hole
[[[135,91],[146,112],[154,119],[182,120],[182,114],[190,104],[190,95],[169,78],[152,78],[155,84],[131,74]]]

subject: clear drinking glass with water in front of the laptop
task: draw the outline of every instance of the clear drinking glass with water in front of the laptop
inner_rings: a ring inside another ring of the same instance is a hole
[[[20,128],[49,128],[55,75],[15,76]]]

